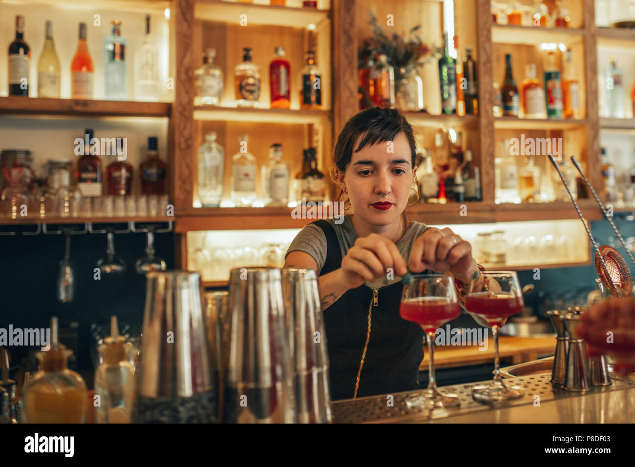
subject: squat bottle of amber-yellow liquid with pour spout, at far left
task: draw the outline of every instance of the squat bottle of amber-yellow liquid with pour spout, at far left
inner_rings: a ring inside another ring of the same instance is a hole
[[[51,318],[50,349],[37,352],[37,374],[22,389],[24,423],[84,423],[86,383],[69,370],[72,352],[58,341],[57,317]]]

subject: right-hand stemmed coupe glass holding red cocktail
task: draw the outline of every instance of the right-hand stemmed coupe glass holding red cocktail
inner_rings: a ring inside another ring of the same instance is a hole
[[[521,312],[525,306],[518,275],[512,271],[483,272],[483,278],[475,280],[465,299],[465,308],[479,315],[491,326],[494,336],[494,379],[487,385],[474,386],[472,398],[479,402],[494,402],[523,397],[521,385],[505,385],[500,377],[498,361],[498,331],[511,315]]]

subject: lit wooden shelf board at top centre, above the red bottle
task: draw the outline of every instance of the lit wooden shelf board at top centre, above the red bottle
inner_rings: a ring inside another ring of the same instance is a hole
[[[243,16],[246,15],[246,16]],[[252,25],[309,27],[328,20],[330,10],[290,8],[288,6],[234,3],[220,0],[196,0],[194,17],[198,20],[239,24],[243,18]]]

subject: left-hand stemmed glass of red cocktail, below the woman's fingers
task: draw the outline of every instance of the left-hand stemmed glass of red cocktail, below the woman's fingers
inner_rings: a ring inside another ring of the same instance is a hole
[[[406,398],[406,405],[415,409],[458,407],[456,394],[441,394],[434,378],[434,335],[436,329],[460,314],[454,280],[449,275],[415,274],[410,284],[404,284],[399,314],[425,331],[428,341],[428,387],[420,395]]]

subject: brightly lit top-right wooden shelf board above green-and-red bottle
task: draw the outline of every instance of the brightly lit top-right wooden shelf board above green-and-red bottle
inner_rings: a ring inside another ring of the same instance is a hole
[[[564,27],[533,27],[497,24],[491,27],[491,41],[495,44],[582,43],[584,29]]]

